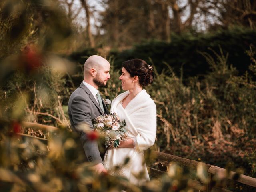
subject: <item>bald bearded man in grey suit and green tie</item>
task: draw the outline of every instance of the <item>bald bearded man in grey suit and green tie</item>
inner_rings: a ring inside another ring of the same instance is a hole
[[[106,172],[100,156],[98,143],[90,140],[85,132],[78,130],[80,123],[86,123],[91,130],[92,120],[108,113],[105,103],[98,92],[99,87],[106,85],[110,79],[109,62],[98,55],[90,56],[84,63],[84,80],[70,96],[68,102],[68,115],[73,131],[78,132],[88,161],[93,162],[97,173]]]

